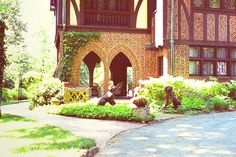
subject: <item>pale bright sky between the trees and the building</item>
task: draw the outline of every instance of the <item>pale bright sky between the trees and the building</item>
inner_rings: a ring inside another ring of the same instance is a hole
[[[32,56],[39,55],[39,35],[42,29],[47,31],[50,42],[54,43],[55,17],[50,11],[49,0],[21,0],[22,21],[27,24],[27,32],[24,33],[27,45],[26,51]]]

